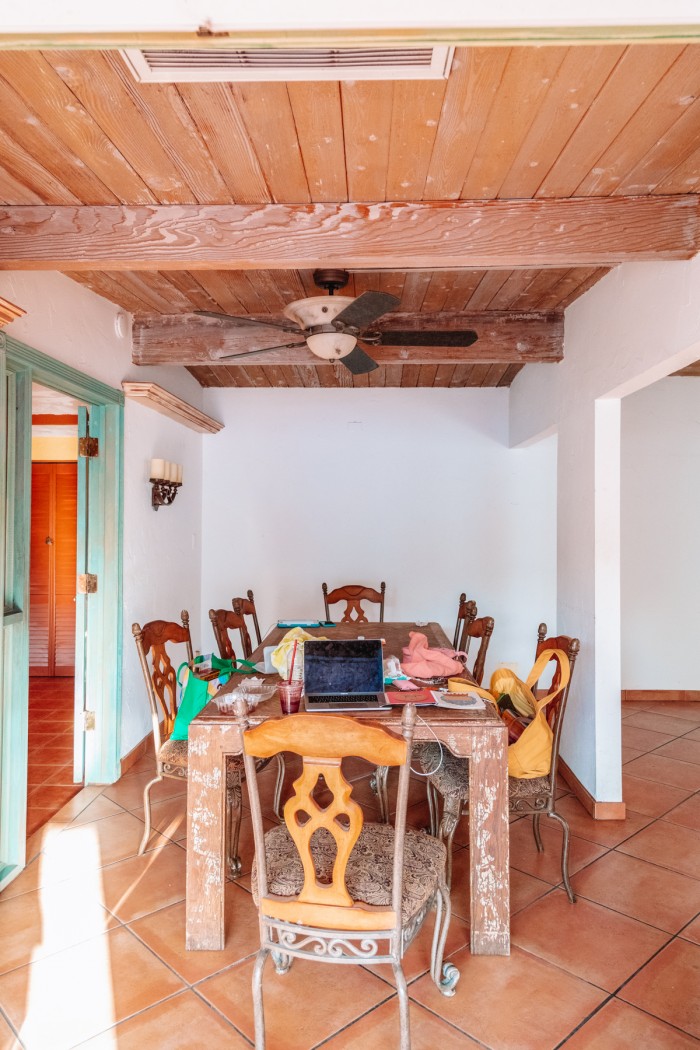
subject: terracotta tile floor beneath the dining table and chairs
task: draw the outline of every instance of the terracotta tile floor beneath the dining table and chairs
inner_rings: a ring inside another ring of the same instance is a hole
[[[470,956],[460,826],[447,950],[462,980],[453,999],[437,992],[424,929],[405,963],[413,1050],[700,1045],[700,704],[674,705],[667,719],[661,705],[625,705],[622,736],[634,768],[627,819],[596,822],[572,795],[559,802],[573,836],[575,905],[559,884],[557,827],[544,828],[540,855],[529,819],[511,825],[509,959]],[[258,933],[250,823],[243,876],[227,886],[227,927],[236,932],[220,952],[188,952],[182,785],[154,792],[154,834],[136,856],[150,768],[142,759],[120,783],[84,789],[30,837],[26,872],[0,897],[0,1050],[251,1046]],[[372,812],[366,766],[351,775]],[[272,771],[262,781],[270,799]],[[411,798],[420,825],[420,784]],[[398,1013],[387,970],[297,961],[280,978],[269,966],[270,1050],[393,1050]]]

